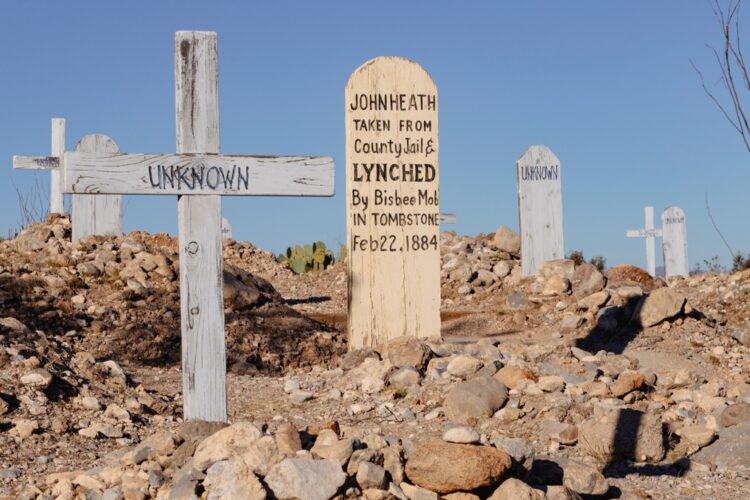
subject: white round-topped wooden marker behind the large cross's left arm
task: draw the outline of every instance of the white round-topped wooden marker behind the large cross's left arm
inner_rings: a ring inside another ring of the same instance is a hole
[[[76,144],[75,149],[78,153],[112,154],[120,151],[115,141],[102,134],[83,137]],[[63,168],[63,184],[67,178],[67,170]],[[122,234],[122,196],[73,194],[71,218],[73,219],[73,241],[94,234],[119,236]]]

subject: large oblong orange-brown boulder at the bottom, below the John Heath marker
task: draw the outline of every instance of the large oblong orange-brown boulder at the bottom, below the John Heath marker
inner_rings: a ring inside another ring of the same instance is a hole
[[[429,441],[409,455],[406,477],[417,486],[445,494],[490,486],[510,466],[510,456],[491,446]]]

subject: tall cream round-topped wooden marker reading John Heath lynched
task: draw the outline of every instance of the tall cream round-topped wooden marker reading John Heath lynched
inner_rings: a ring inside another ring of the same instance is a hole
[[[438,96],[415,62],[378,57],[346,85],[349,348],[440,336]]]

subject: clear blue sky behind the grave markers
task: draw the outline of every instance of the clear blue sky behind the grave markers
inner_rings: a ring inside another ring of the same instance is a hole
[[[546,144],[562,161],[566,250],[645,266],[644,242],[625,230],[643,227],[644,205],[657,216],[679,205],[691,267],[727,264],[708,192],[729,242],[750,251],[750,153],[689,63],[717,82],[705,44],[720,33],[701,0],[8,1],[0,20],[3,234],[19,216],[14,183],[27,190],[35,175],[14,172],[12,155],[48,154],[52,117],[67,120],[68,150],[103,133],[123,152],[174,151],[173,35],[213,30],[222,152],[337,162],[334,198],[225,198],[238,239],[338,248],[344,86],[366,60],[400,55],[438,86],[441,210],[459,233],[518,228],[515,160]],[[128,231],[176,234],[176,221],[174,197],[126,201]]]

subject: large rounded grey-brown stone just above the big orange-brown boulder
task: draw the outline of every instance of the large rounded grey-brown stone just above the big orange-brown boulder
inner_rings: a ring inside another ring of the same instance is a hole
[[[443,409],[449,420],[473,425],[491,417],[508,400],[505,385],[490,377],[461,382],[445,397]]]

